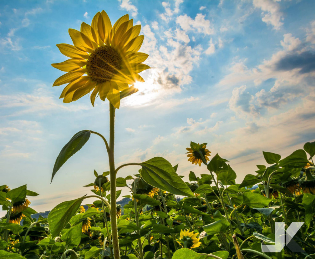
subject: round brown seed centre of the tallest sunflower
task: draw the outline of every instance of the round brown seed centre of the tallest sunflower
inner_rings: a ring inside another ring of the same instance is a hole
[[[100,46],[91,53],[87,64],[87,74],[93,81],[104,83],[110,81],[121,69],[122,58],[110,46]]]

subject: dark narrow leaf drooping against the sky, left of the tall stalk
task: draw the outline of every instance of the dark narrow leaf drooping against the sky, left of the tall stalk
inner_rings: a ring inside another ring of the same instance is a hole
[[[51,181],[53,181],[54,175],[60,169],[60,167],[66,163],[66,161],[75,153],[77,153],[81,147],[89,140],[91,132],[89,130],[79,131],[77,134],[73,135],[71,140],[61,149],[56,162],[54,164],[53,174],[51,176]]]

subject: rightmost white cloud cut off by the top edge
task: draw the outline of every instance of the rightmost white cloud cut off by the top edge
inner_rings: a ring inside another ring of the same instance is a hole
[[[255,8],[260,8],[264,17],[261,19],[267,25],[272,25],[274,29],[279,30],[283,25],[283,14],[280,11],[280,5],[274,0],[253,0]]]

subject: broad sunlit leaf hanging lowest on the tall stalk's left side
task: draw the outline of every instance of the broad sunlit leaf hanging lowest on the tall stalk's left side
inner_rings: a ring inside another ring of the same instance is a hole
[[[51,238],[59,235],[61,230],[70,221],[71,217],[80,208],[83,199],[84,197],[71,201],[64,201],[49,212],[48,223],[50,227]]]

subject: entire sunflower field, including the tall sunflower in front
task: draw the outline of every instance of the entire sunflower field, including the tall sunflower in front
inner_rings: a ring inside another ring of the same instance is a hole
[[[0,259],[315,258],[315,142],[285,158],[263,152],[266,163],[241,183],[207,143],[186,148],[188,161],[203,169],[200,175],[179,172],[162,157],[115,166],[115,113],[120,100],[138,90],[134,83],[144,81],[139,73],[150,68],[142,63],[148,55],[138,52],[139,33],[128,14],[112,26],[102,11],[91,25],[69,29],[73,45],[57,45],[70,58],[52,64],[66,72],[53,84],[67,84],[60,98],[72,102],[90,93],[92,105],[98,96],[107,99],[110,120],[107,138],[93,130],[73,135],[57,156],[51,180],[91,134],[106,147],[108,171],[94,171],[89,195],[58,204],[47,218],[33,216],[37,193],[3,183]],[[130,175],[120,177],[127,166]],[[189,182],[181,174],[189,174]],[[121,196],[117,187],[129,195]],[[117,204],[122,198],[123,206]]]

